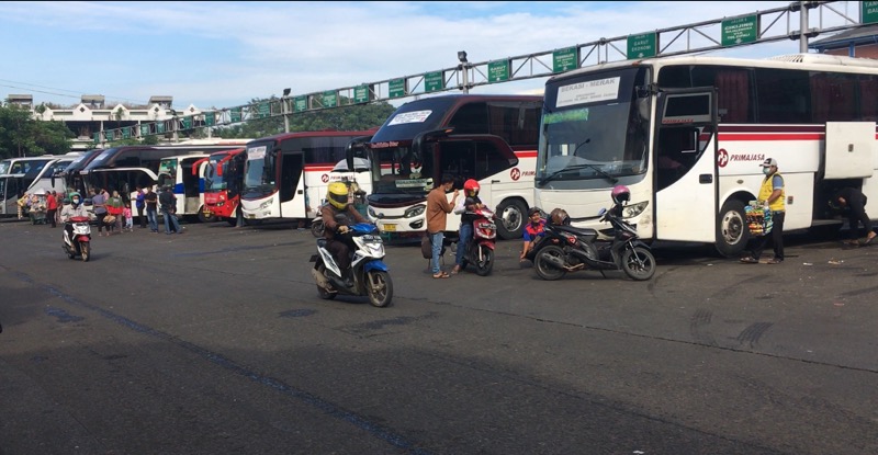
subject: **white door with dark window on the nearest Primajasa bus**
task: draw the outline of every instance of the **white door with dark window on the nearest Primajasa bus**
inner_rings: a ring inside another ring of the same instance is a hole
[[[712,243],[719,212],[714,89],[662,90],[657,102],[655,238]]]

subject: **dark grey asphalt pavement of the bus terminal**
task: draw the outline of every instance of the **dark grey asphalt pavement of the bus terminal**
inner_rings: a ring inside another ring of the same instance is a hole
[[[518,241],[448,280],[389,246],[374,308],[322,300],[285,224],[135,228],[87,263],[60,234],[0,223],[2,455],[878,453],[874,247],[656,244],[651,281],[545,282]]]

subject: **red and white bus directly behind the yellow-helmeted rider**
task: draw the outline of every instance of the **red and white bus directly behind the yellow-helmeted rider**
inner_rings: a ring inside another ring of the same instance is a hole
[[[357,182],[369,192],[368,163],[347,170],[346,149],[351,141],[362,141],[374,133],[284,133],[247,143],[240,194],[245,219],[312,219],[334,181]]]

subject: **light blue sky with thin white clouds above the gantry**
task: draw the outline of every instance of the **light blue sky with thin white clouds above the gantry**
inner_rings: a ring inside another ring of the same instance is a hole
[[[856,18],[858,2],[837,2]],[[849,4],[848,4],[849,3]],[[0,95],[176,107],[351,87],[788,5],[762,2],[0,2]],[[786,26],[784,24],[784,26]],[[719,55],[766,57],[798,42]],[[532,92],[544,79],[494,84]],[[477,92],[480,89],[473,90]]]

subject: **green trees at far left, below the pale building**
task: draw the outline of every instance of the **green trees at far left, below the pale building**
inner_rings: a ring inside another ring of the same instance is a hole
[[[0,158],[70,151],[74,132],[61,122],[37,121],[31,115],[16,105],[0,106]]]

